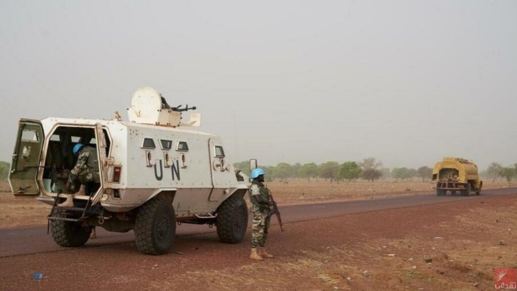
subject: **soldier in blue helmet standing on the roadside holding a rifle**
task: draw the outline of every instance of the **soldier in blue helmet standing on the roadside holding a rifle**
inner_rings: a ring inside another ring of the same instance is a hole
[[[273,205],[269,190],[264,185],[264,175],[261,168],[251,171],[251,187],[249,191],[251,201],[251,212],[253,213],[253,227],[251,234],[251,255],[255,261],[262,261],[266,258],[273,258],[264,245],[266,243],[268,228],[270,224],[269,211]]]

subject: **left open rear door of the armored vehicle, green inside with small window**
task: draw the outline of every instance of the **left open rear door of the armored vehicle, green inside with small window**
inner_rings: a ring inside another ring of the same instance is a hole
[[[38,195],[38,176],[43,148],[43,126],[39,120],[20,119],[12,153],[9,186],[14,195]]]

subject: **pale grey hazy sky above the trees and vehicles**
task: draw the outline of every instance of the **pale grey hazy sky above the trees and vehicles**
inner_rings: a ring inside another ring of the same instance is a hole
[[[0,0],[0,160],[18,119],[111,119],[140,86],[233,161],[517,163],[517,1]]]

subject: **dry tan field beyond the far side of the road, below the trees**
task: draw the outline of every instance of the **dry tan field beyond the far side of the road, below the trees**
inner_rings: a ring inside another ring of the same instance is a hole
[[[350,201],[434,192],[432,182],[368,181],[329,182],[290,180],[268,182],[280,205]],[[508,183],[485,182],[485,189],[508,187]],[[34,197],[15,197],[7,183],[0,183],[0,228],[47,224],[51,207]]]

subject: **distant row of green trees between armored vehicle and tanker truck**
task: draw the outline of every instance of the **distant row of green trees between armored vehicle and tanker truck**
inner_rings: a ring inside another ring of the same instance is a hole
[[[243,161],[234,164],[236,169],[249,175],[249,162]],[[356,179],[369,180],[371,182],[380,178],[393,178],[396,180],[413,180],[421,178],[422,181],[430,179],[433,169],[428,166],[421,166],[418,169],[407,167],[394,167],[389,169],[383,167],[383,163],[373,157],[365,158],[361,162],[347,161],[338,163],[334,161],[316,164],[288,164],[279,163],[276,166],[261,166],[266,171],[266,180],[285,180],[287,178],[298,179],[324,179],[333,181],[352,181]]]

